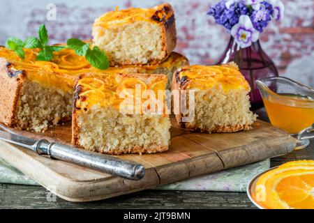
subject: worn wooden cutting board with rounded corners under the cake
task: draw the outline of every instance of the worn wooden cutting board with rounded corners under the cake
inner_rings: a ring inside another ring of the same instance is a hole
[[[54,127],[45,134],[7,130],[67,144],[71,137],[70,125]],[[96,201],[284,155],[295,144],[296,140],[287,132],[263,121],[256,121],[248,132],[202,134],[181,129],[172,120],[169,151],[119,155],[144,165],[146,174],[138,181],[52,160],[3,141],[0,141],[0,157],[63,199]]]

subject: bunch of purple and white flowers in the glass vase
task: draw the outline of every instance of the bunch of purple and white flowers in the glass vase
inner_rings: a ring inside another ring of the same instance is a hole
[[[207,14],[230,31],[239,47],[247,47],[272,18],[281,19],[283,11],[281,0],[220,0]]]

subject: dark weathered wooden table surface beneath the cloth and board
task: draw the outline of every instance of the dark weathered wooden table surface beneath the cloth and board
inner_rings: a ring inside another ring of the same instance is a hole
[[[260,118],[266,119],[264,112]],[[271,159],[271,167],[292,160],[314,160],[314,140],[303,150]],[[44,187],[0,184],[1,208],[255,208],[244,192],[146,190],[88,203],[71,203]]]

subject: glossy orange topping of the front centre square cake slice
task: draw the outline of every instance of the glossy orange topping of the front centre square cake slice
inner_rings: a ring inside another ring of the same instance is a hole
[[[124,74],[89,74],[84,75],[77,82],[80,86],[79,97],[76,107],[89,109],[93,105],[100,107],[112,106],[119,109],[124,97],[137,98],[136,91],[140,91],[140,99],[144,101],[143,95],[147,90],[157,93],[165,90],[167,77],[165,75],[124,75]],[[121,94],[124,93],[124,94]],[[156,95],[156,98],[158,95]],[[137,98],[138,99],[138,98]],[[132,100],[134,102],[134,100]]]

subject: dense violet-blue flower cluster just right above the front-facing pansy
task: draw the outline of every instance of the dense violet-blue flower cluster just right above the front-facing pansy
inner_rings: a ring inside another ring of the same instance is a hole
[[[259,8],[253,10],[251,21],[253,26],[258,31],[262,32],[271,20],[271,15],[274,13],[273,7],[267,1],[262,1]]]

